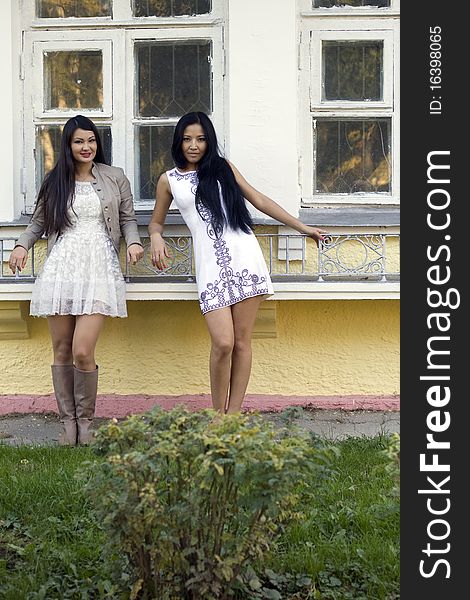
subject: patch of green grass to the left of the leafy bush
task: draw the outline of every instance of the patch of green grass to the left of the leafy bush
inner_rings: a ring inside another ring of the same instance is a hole
[[[74,480],[91,458],[87,448],[0,445],[1,598],[99,597],[103,533]]]

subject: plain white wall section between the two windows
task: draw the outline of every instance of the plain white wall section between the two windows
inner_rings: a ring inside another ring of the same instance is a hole
[[[292,0],[228,0],[227,154],[297,216],[297,28]]]

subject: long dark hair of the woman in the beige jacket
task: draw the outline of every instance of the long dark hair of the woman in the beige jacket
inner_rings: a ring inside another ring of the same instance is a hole
[[[43,206],[46,235],[61,233],[71,224],[67,209],[75,194],[75,162],[70,145],[77,129],[93,132],[97,146],[94,161],[106,164],[100,134],[93,121],[83,115],[70,118],[62,131],[57,162],[44,177],[38,193],[37,207]]]

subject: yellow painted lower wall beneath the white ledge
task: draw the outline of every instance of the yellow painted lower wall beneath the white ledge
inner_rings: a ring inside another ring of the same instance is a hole
[[[107,319],[98,342],[99,393],[209,393],[198,303],[130,301],[128,312]],[[0,394],[52,391],[47,322],[26,320],[29,339],[0,341]],[[277,337],[253,340],[248,393],[398,394],[399,301],[277,301]]]

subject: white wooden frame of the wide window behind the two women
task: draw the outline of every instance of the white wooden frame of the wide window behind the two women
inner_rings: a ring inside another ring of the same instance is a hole
[[[36,201],[36,127],[65,122],[76,114],[73,110],[43,108],[43,51],[92,50],[103,51],[103,110],[81,110],[97,125],[109,125],[112,131],[112,162],[126,172],[134,191],[135,208],[149,210],[154,200],[140,201],[134,183],[134,130],[137,123],[176,123],[177,118],[135,118],[136,84],[134,43],[145,40],[174,42],[178,40],[208,40],[212,43],[212,114],[211,120],[224,133],[225,81],[225,0],[212,0],[212,12],[194,17],[132,17],[129,0],[113,0],[113,18],[35,19],[34,0],[24,0],[22,24],[24,30],[22,52],[23,79],[23,165],[21,190],[26,213],[31,213]]]

